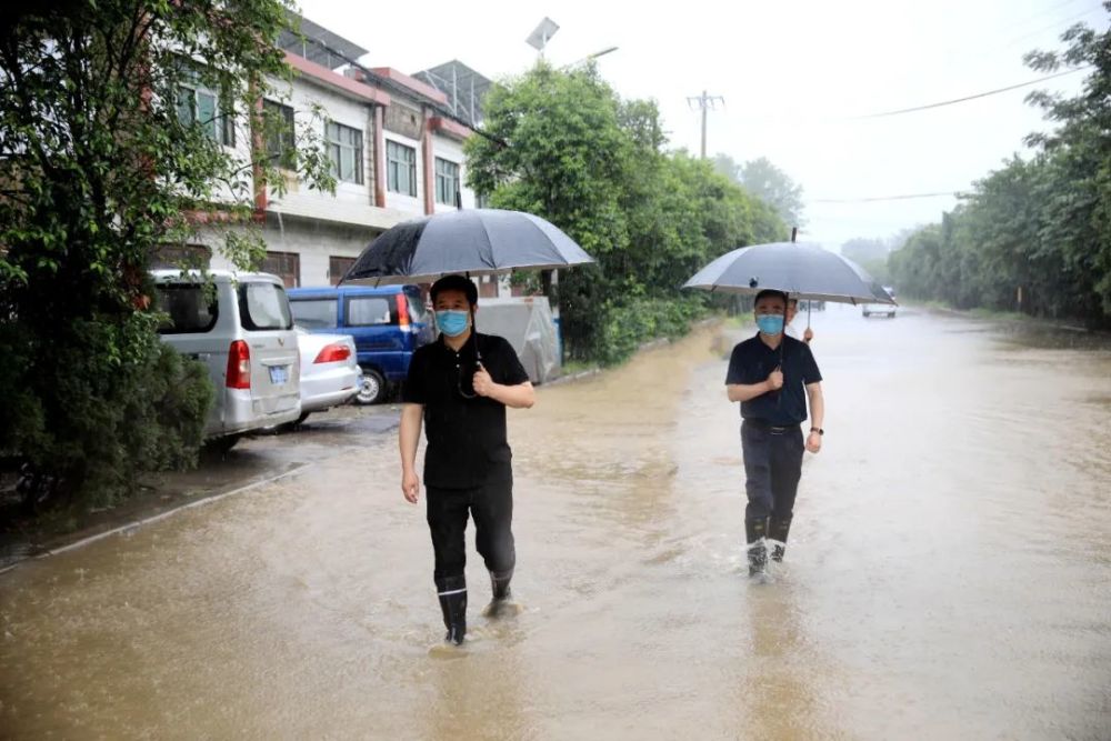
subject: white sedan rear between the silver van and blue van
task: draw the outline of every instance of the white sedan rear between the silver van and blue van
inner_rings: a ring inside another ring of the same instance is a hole
[[[297,348],[301,356],[301,415],[322,412],[346,404],[359,393],[362,370],[356,360],[354,339],[350,334],[316,334],[297,328]]]

